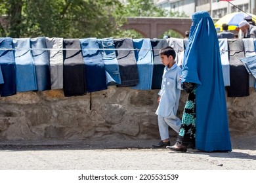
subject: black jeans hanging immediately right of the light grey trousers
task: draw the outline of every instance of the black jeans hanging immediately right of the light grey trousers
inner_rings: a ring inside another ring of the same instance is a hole
[[[84,95],[87,91],[85,84],[85,63],[82,58],[79,39],[63,39],[63,90],[64,95]]]

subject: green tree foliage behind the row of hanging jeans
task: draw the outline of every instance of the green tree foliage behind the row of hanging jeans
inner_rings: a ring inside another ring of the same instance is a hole
[[[0,0],[1,37],[133,37],[126,17],[175,16],[153,0]],[[177,13],[176,13],[177,14]],[[179,14],[178,14],[179,15]],[[183,15],[181,15],[183,16]]]

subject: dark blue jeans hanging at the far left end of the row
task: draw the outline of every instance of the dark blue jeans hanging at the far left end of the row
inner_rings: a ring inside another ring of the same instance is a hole
[[[0,48],[12,48],[12,38],[0,38]],[[3,76],[3,84],[0,84],[1,97],[16,94],[16,74],[13,50],[0,50],[0,65]]]

